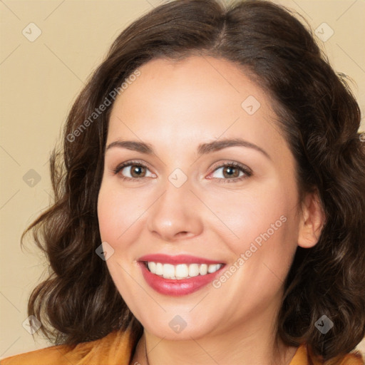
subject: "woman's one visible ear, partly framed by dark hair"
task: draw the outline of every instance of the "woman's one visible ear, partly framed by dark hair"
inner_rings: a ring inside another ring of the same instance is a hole
[[[302,205],[298,245],[303,248],[310,248],[316,245],[324,222],[324,210],[317,192],[308,193]]]

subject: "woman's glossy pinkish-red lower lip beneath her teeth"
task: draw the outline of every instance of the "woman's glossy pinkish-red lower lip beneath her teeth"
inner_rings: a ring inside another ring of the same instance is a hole
[[[191,294],[197,290],[205,287],[205,285],[212,282],[220,273],[225,265],[223,265],[216,272],[206,275],[197,275],[189,279],[165,279],[150,272],[143,262],[139,262],[142,269],[143,277],[151,288],[155,289],[160,294],[170,295],[173,297],[182,297],[183,295]]]

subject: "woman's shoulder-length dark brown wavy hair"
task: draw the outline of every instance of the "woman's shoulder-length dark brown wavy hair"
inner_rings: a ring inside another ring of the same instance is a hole
[[[285,344],[336,360],[365,334],[365,143],[360,110],[344,75],[336,74],[309,26],[269,1],[177,0],[160,5],[115,39],[74,102],[63,145],[50,158],[54,202],[24,231],[50,264],[29,298],[29,315],[55,344],[75,345],[132,326],[128,309],[96,255],[101,245],[97,200],[111,106],[75,130],[110,92],[154,58],[225,58],[268,91],[277,125],[297,161],[299,194],[317,191],[326,221],[317,245],[298,247],[278,317]],[[95,116],[95,115],[94,115]],[[85,125],[85,124],[84,124]],[[302,201],[302,200],[301,200]],[[315,322],[334,327],[322,334]]]

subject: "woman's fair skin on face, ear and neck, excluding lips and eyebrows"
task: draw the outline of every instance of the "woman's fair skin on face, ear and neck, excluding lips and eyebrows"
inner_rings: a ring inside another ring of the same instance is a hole
[[[241,106],[249,96],[260,103],[252,115]],[[267,93],[230,61],[212,57],[150,61],[115,100],[106,145],[136,140],[155,151],[107,149],[98,197],[101,239],[114,250],[106,263],[143,324],[150,365],[289,364],[294,356],[295,348],[275,341],[283,283],[297,245],[317,243],[324,216],[312,194],[300,209],[295,161],[275,118]],[[241,146],[197,155],[201,143],[224,138],[247,140],[269,158]],[[113,173],[130,160],[147,166],[141,180],[123,180],[133,176],[128,167]],[[232,162],[252,175],[224,174],[222,164]],[[181,187],[168,180],[176,168],[187,177]],[[282,216],[281,227],[217,289],[159,294],[137,264],[143,255],[165,253],[229,268]],[[187,324],[178,334],[169,326],[176,315]],[[131,364],[146,364],[144,336]]]

